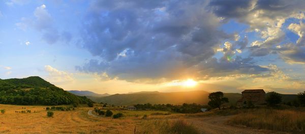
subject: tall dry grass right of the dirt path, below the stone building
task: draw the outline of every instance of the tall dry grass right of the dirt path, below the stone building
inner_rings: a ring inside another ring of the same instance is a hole
[[[305,112],[296,110],[257,109],[240,113],[229,124],[259,129],[305,133]]]

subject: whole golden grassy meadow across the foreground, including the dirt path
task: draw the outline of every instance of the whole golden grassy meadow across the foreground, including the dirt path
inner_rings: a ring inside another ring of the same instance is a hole
[[[46,107],[50,106],[0,105],[4,110],[0,133],[303,133],[305,126],[303,109],[226,109],[197,114],[110,109],[113,114],[124,114],[114,119],[86,106],[54,110],[53,117],[47,117]],[[94,116],[88,115],[90,110]]]

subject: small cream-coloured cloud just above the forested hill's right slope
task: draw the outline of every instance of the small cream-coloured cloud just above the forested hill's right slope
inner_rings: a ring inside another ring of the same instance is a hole
[[[56,84],[65,84],[74,80],[72,74],[64,71],[58,71],[50,65],[45,65],[45,71],[49,74],[47,79]]]

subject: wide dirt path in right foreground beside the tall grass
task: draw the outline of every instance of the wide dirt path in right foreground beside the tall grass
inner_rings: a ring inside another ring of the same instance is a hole
[[[226,121],[232,116],[221,116],[221,117],[200,117],[200,118],[186,118],[188,122],[191,122],[195,125],[200,133],[209,133],[209,134],[230,134],[230,133],[245,133],[245,134],[254,134],[254,133],[284,133],[284,132],[275,132],[269,130],[259,130],[251,128],[243,128],[230,126],[226,124]]]

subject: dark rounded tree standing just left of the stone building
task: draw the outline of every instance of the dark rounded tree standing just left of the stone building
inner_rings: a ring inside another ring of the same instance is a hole
[[[212,92],[208,95],[208,98],[210,101],[208,102],[208,105],[212,108],[219,108],[224,103],[229,103],[229,100],[227,97],[224,97],[223,92]]]

